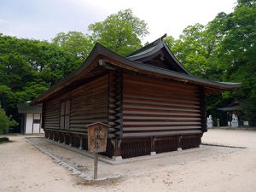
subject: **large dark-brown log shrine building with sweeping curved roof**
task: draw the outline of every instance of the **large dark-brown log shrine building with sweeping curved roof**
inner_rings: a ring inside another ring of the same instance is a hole
[[[108,157],[199,147],[205,96],[239,84],[196,78],[163,38],[127,57],[96,44],[84,65],[32,102],[43,103],[45,137],[86,150],[86,125],[102,122]]]

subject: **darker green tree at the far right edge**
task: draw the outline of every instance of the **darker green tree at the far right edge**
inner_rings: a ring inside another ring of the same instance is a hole
[[[256,3],[239,0],[236,9],[224,22],[225,36],[218,47],[218,63],[223,80],[242,83],[229,96],[245,101],[248,119],[256,119]]]

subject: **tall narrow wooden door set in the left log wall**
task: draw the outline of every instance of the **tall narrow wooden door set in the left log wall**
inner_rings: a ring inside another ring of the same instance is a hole
[[[70,101],[61,102],[61,129],[69,129]]]

